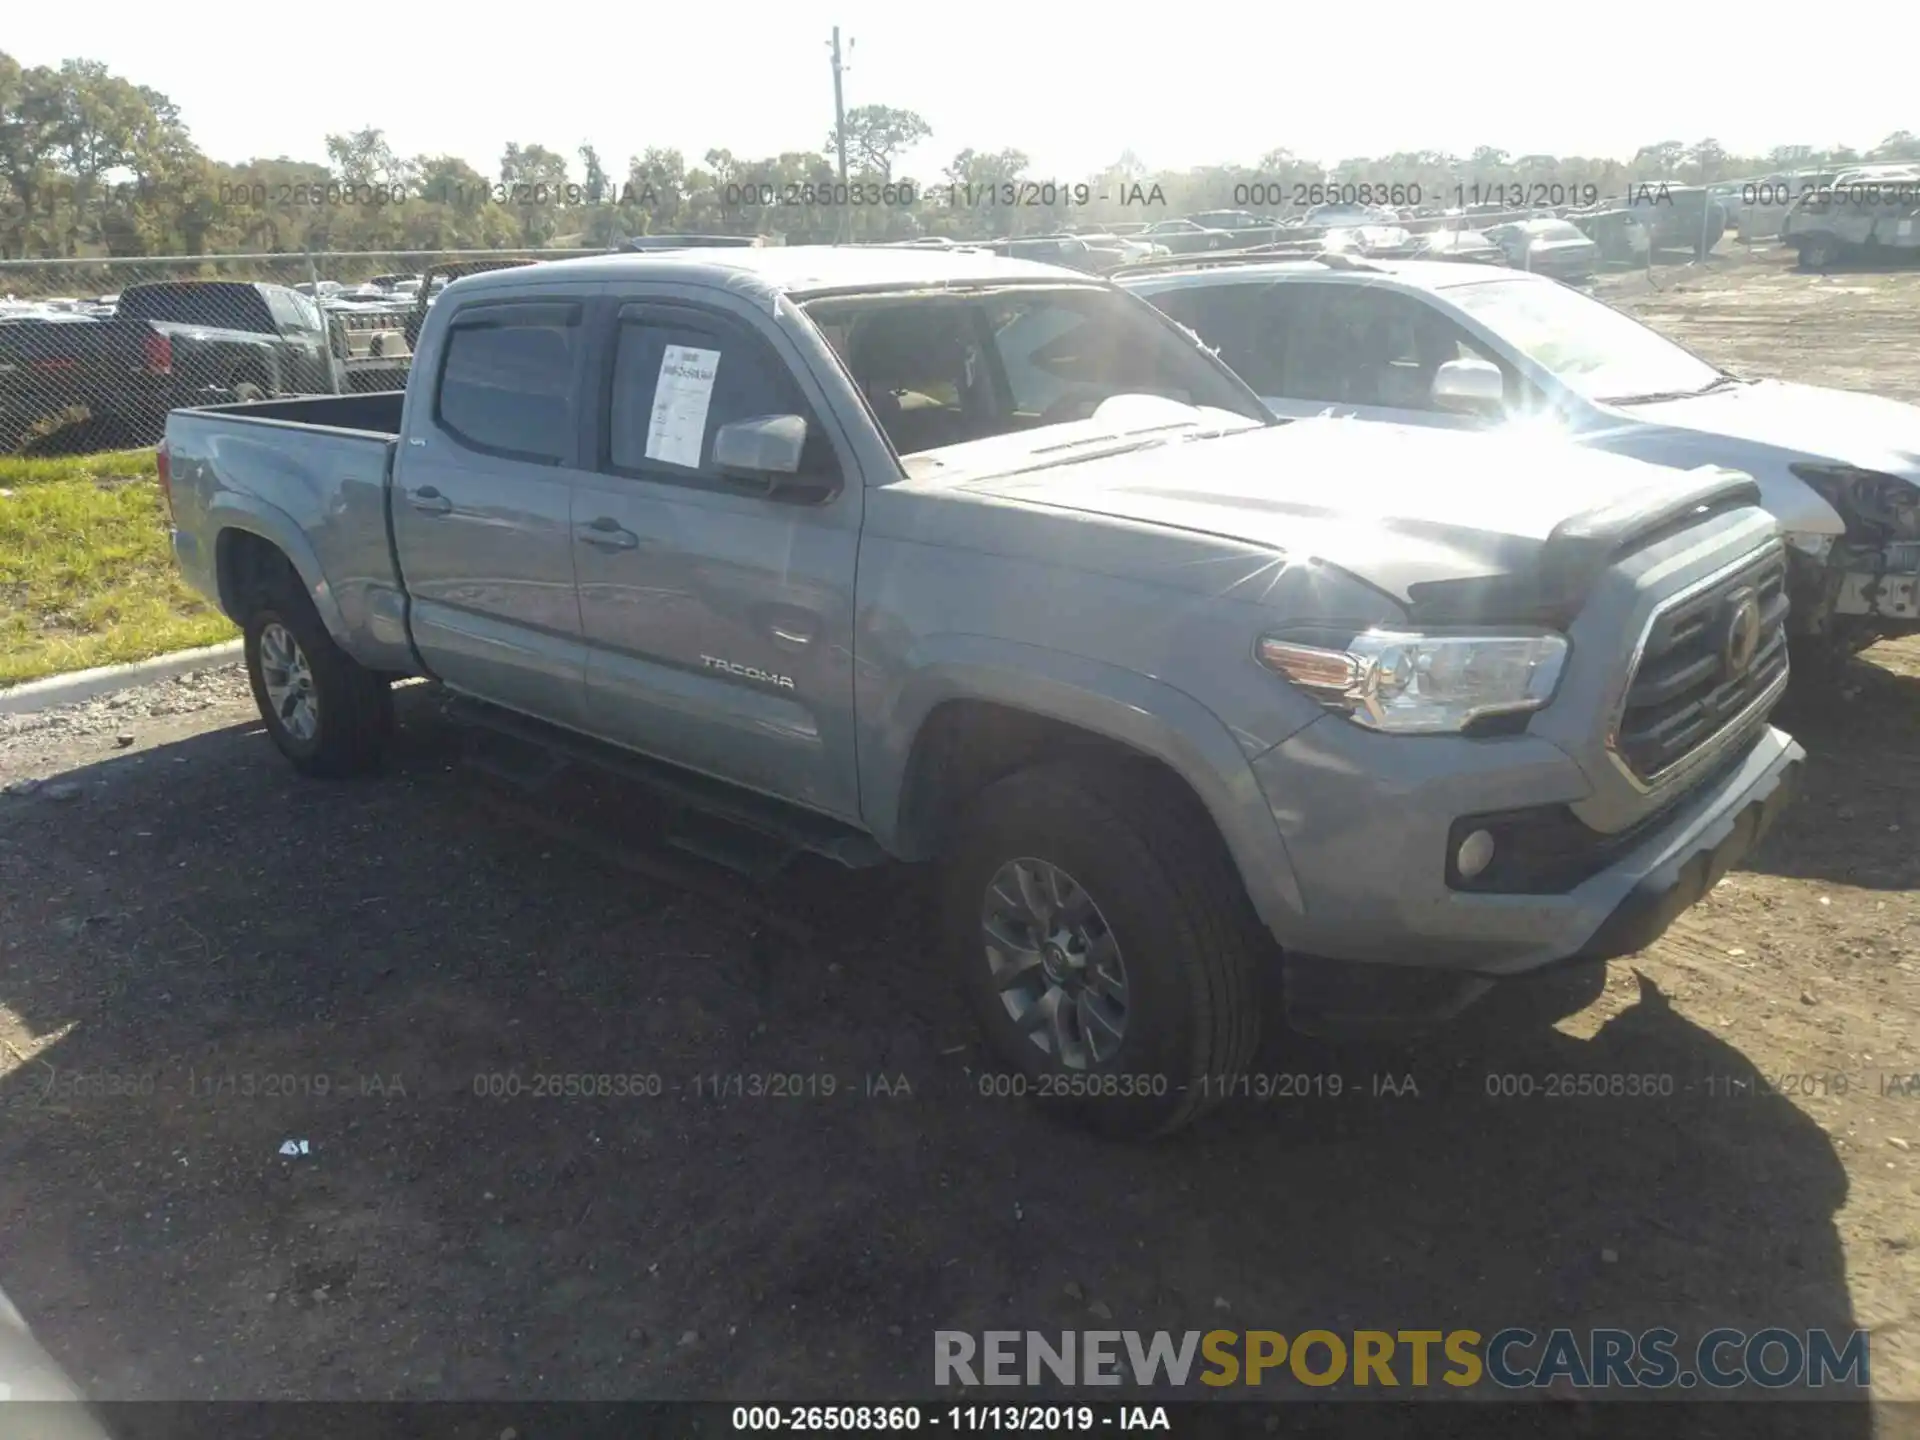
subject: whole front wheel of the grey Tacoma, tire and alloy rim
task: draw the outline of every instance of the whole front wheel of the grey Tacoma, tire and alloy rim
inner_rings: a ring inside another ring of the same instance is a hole
[[[943,931],[1004,1071],[983,1077],[995,1094],[1144,1139],[1212,1108],[1254,1058],[1271,941],[1208,816],[1148,764],[1048,762],[989,785],[947,862]]]

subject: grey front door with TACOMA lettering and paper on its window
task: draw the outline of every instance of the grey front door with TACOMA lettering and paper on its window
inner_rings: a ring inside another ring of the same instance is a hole
[[[718,303],[609,301],[595,353],[597,472],[574,503],[593,733],[858,816],[862,486],[826,397],[778,332]],[[758,415],[804,417],[803,468],[839,480],[831,499],[718,474],[718,428]]]

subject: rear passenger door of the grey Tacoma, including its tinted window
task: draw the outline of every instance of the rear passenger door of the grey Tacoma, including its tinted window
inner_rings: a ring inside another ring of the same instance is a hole
[[[572,499],[593,288],[468,301],[407,397],[394,541],[413,639],[453,689],[584,728]]]

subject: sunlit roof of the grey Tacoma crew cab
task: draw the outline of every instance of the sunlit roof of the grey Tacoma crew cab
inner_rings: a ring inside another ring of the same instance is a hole
[[[584,255],[580,259],[541,261],[543,275],[578,276],[584,280],[682,280],[755,294],[803,296],[822,290],[916,288],[941,284],[1008,282],[1081,282],[1091,276],[1058,265],[1008,259],[977,250],[939,250],[933,246],[760,246],[760,248],[697,248],[659,250],[651,253]],[[457,280],[468,294],[484,290],[518,290],[528,284],[528,267],[490,271]]]

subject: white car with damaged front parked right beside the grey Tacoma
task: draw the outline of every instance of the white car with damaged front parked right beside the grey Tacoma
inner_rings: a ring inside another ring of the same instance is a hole
[[[1734,376],[1540,275],[1296,261],[1121,284],[1217,346],[1277,415],[1521,428],[1743,470],[1788,538],[1807,659],[1920,634],[1920,407]]]

